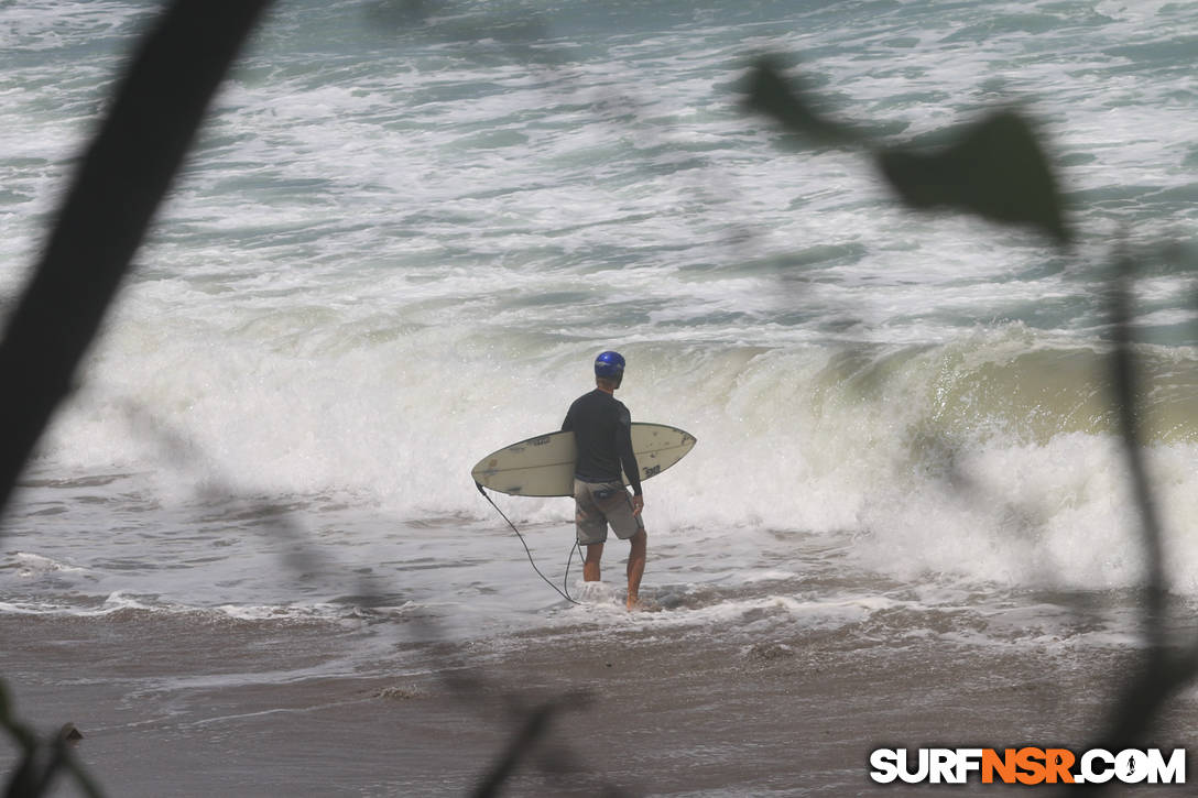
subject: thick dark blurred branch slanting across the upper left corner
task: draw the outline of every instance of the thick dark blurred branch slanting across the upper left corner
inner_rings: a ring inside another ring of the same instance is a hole
[[[176,0],[143,40],[0,341],[0,513],[267,5]]]

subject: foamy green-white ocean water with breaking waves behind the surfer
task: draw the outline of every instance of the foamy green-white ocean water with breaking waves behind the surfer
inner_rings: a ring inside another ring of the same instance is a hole
[[[157,8],[0,7],[0,312]],[[1135,645],[1105,297],[1121,247],[1191,601],[1194,30],[1157,0],[282,2],[4,519],[0,613]],[[793,146],[742,107],[767,52],[889,144],[1018,104],[1076,246]],[[646,484],[635,617],[622,544],[601,587],[567,573],[569,500],[495,497],[581,606],[470,479],[605,349],[635,421],[698,439]]]

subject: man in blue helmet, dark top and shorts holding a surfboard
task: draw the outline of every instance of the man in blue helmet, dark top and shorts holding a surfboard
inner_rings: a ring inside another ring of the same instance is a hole
[[[607,525],[616,537],[628,540],[628,609],[640,606],[641,576],[648,536],[641,510],[641,472],[633,453],[633,418],[624,403],[615,397],[624,379],[624,358],[619,352],[603,352],[595,358],[595,389],[574,400],[563,431],[573,431],[579,459],[574,466],[575,527],[580,545],[587,548],[582,580],[599,581],[599,560],[607,539]],[[633,495],[628,495],[621,468],[628,474]]]

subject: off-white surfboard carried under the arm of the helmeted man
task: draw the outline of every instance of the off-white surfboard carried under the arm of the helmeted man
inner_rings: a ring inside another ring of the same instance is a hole
[[[682,460],[694,446],[695,436],[677,427],[633,423],[633,452],[642,482]],[[470,476],[501,494],[573,496],[576,457],[574,433],[550,433],[488,454]],[[622,476],[627,485],[628,476]]]

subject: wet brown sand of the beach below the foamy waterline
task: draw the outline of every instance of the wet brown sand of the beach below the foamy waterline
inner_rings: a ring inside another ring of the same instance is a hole
[[[111,796],[468,794],[544,707],[506,794],[943,796],[996,788],[873,785],[869,751],[1083,748],[1132,661],[694,628],[392,645],[387,624],[198,617],[2,617],[0,673],[41,731],[79,727],[75,751]],[[346,659],[371,645],[382,653]],[[1179,699],[1154,742],[1191,743],[1194,708]]]

